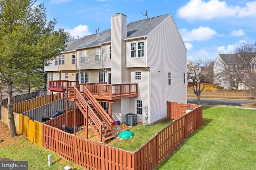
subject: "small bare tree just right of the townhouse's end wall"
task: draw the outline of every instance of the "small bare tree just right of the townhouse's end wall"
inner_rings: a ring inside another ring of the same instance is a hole
[[[214,85],[213,63],[212,59],[197,59],[187,63],[188,83],[193,86],[194,94],[197,96],[197,104],[200,104],[202,91]]]

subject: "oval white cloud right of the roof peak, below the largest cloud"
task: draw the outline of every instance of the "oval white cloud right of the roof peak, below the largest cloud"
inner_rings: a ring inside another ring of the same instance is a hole
[[[209,27],[202,27],[192,29],[192,31],[188,31],[186,28],[180,29],[180,34],[184,41],[203,41],[212,38],[212,36],[216,35],[216,31]]]

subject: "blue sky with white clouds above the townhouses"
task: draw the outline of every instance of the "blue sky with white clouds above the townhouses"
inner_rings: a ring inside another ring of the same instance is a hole
[[[111,28],[111,16],[120,12],[133,21],[172,14],[188,49],[187,59],[216,59],[233,53],[240,43],[256,42],[256,1],[250,0],[38,0],[48,20],[80,38]]]

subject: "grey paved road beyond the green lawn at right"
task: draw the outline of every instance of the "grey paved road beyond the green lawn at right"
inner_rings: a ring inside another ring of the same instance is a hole
[[[197,98],[188,98],[188,103],[196,104]],[[226,99],[200,99],[200,104],[241,106],[242,104],[254,103],[255,100],[226,100]]]

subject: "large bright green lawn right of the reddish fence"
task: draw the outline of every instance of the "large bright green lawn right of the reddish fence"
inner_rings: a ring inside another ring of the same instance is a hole
[[[256,110],[204,106],[203,125],[157,170],[256,169]]]

